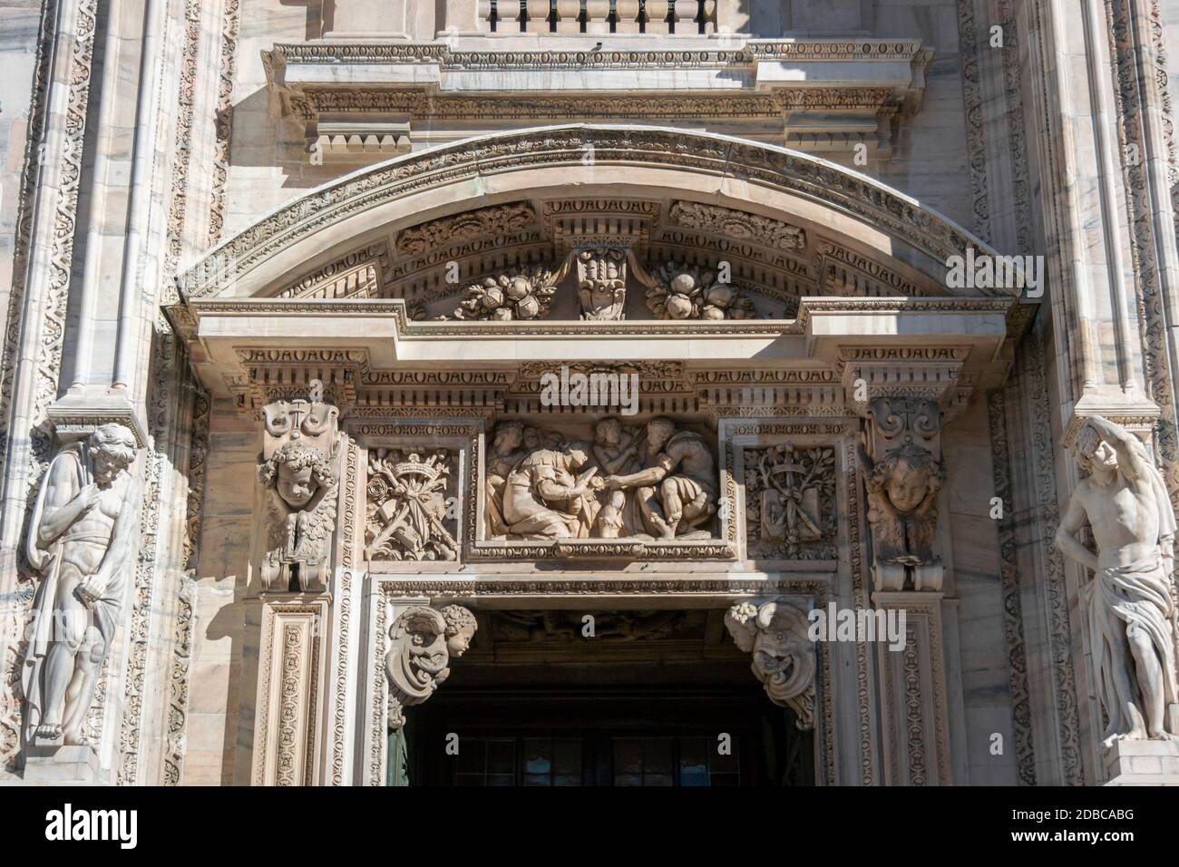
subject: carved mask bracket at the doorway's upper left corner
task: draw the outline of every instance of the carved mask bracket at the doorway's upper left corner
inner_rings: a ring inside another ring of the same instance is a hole
[[[390,729],[406,724],[404,708],[434,695],[450,675],[450,658],[467,651],[477,628],[475,616],[462,605],[414,605],[399,615],[389,628],[391,649],[384,657]]]

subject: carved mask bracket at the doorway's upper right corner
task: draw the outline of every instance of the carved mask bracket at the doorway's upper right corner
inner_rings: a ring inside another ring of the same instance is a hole
[[[753,675],[775,704],[798,716],[799,729],[815,728],[815,643],[806,615],[783,599],[736,603],[725,626],[737,646],[753,655]]]

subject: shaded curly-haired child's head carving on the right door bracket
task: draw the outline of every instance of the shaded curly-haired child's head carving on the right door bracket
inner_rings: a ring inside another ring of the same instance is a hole
[[[859,459],[867,477],[877,590],[903,590],[910,572],[916,590],[936,589],[941,585],[941,558],[934,552],[937,493],[946,468],[915,442],[890,448],[878,461],[861,446]]]

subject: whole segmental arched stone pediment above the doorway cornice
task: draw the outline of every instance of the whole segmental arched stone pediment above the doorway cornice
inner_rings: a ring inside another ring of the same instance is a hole
[[[677,269],[725,268],[731,310],[743,310],[732,315],[780,320],[804,296],[951,296],[947,258],[989,252],[918,202],[815,157],[705,132],[568,125],[349,175],[228,239],[178,284],[186,301],[402,298],[430,320],[454,316],[472,284],[525,274],[554,284],[526,317],[575,320],[573,250],[593,244],[625,249],[627,320],[671,317],[660,302]]]

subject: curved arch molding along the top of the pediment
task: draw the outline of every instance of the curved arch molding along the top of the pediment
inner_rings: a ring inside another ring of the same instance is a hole
[[[571,124],[465,139],[396,157],[282,205],[177,278],[185,300],[248,298],[344,244],[525,191],[677,190],[696,201],[789,215],[942,282],[946,260],[994,254],[935,210],[811,156],[707,132]],[[949,290],[947,290],[947,294]],[[970,295],[1003,290],[970,290]]]

